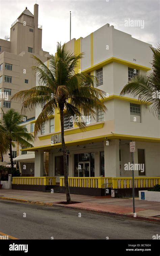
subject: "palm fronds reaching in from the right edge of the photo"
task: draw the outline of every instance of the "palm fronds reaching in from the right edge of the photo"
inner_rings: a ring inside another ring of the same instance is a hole
[[[152,104],[151,111],[158,115],[160,111],[160,44],[157,49],[150,47],[153,51],[152,69],[149,76],[138,74],[124,86],[120,95],[132,94],[138,96],[146,108]]]

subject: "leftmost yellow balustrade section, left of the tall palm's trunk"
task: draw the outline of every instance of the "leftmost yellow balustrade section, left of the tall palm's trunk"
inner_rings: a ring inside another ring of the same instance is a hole
[[[16,185],[56,185],[56,177],[13,177]]]

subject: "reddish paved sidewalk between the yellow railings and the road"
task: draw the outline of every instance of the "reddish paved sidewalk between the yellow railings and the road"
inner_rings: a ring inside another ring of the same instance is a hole
[[[81,203],[62,205],[57,202],[66,201],[65,194],[26,190],[1,189],[0,199],[35,203],[48,206],[88,210],[109,215],[133,217],[132,198],[121,199],[107,196],[88,196],[71,194],[71,200]],[[160,202],[140,201],[135,198],[136,218],[160,222]],[[135,217],[133,217],[136,219]]]

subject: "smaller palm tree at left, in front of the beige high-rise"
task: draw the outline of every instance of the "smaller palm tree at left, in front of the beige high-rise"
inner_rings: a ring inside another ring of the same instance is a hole
[[[15,146],[13,141],[17,141],[21,146],[31,147],[29,143],[33,141],[33,135],[29,134],[24,126],[20,126],[19,123],[23,121],[23,115],[16,112],[14,109],[3,112],[3,122],[0,124],[0,133],[6,138],[9,145],[10,163],[11,168],[14,167],[12,146]]]

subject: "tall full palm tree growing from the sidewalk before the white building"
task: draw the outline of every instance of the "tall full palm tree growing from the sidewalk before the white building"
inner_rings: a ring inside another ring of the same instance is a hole
[[[49,119],[50,115],[58,109],[60,113],[61,123],[61,143],[63,153],[63,169],[64,183],[66,192],[66,201],[71,202],[68,170],[66,158],[66,146],[64,142],[64,110],[70,116],[82,115],[95,118],[97,110],[106,111],[106,107],[102,100],[105,92],[98,88],[94,88],[96,78],[86,73],[76,73],[75,68],[78,61],[84,53],[74,55],[66,49],[65,44],[57,44],[57,52],[55,56],[50,55],[49,68],[36,56],[33,58],[37,61],[37,66],[32,67],[37,73],[39,86],[30,90],[18,92],[12,99],[23,101],[22,110],[29,110],[45,103],[41,114],[38,116],[35,127],[34,136],[41,131],[42,124]],[[27,108],[26,108],[27,107]],[[84,129],[85,123],[78,122],[77,125]]]

